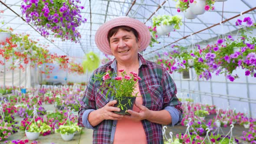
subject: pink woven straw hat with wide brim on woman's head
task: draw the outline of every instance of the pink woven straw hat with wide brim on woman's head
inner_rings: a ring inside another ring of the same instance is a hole
[[[95,34],[95,43],[103,53],[107,55],[112,55],[109,43],[108,43],[108,31],[116,26],[129,26],[134,28],[140,38],[139,52],[146,49],[151,41],[151,35],[148,27],[139,20],[127,17],[119,16],[112,19],[100,26]]]

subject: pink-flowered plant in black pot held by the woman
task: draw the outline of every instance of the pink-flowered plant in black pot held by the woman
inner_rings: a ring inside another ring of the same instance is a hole
[[[138,80],[141,80],[141,78],[134,72],[126,74],[123,69],[119,70],[119,72],[121,72],[121,76],[116,76],[115,78],[113,75],[116,75],[116,73],[111,73],[110,71],[104,74],[95,74],[96,79],[94,80],[101,82],[102,86],[99,88],[99,91],[104,92],[106,90],[106,98],[108,94],[110,94],[117,100],[115,107],[120,108],[121,111],[115,111],[115,113],[130,115],[127,110],[133,107],[138,95],[138,93],[134,93],[134,90],[136,83]]]

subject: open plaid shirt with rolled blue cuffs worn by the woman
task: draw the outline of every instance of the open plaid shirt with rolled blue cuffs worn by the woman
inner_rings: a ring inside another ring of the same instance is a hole
[[[139,90],[143,96],[143,105],[152,111],[167,110],[172,117],[172,124],[174,126],[179,124],[182,119],[181,102],[176,97],[177,89],[174,81],[164,67],[154,62],[145,60],[140,54],[139,57],[139,72],[138,76],[142,80],[138,81]],[[108,62],[95,70],[95,73],[104,73],[108,70],[117,72],[116,60]],[[91,76],[88,86],[85,90],[82,101],[84,104],[79,110],[78,124],[82,127],[93,129],[93,144],[112,144],[115,136],[115,126],[117,121],[104,120],[95,127],[88,121],[90,112],[98,108],[104,107],[110,100],[105,97],[106,91],[98,91],[100,83],[92,80],[94,74]],[[110,95],[110,94],[109,94]],[[163,144],[162,125],[142,120],[143,128],[145,130],[148,144]]]

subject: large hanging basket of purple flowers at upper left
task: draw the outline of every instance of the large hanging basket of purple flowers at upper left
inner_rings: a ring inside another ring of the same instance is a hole
[[[22,14],[26,22],[32,22],[45,37],[54,35],[64,40],[77,42],[81,37],[77,28],[82,19],[80,0],[23,0]]]

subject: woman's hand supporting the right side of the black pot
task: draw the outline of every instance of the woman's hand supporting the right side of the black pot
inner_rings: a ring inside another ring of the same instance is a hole
[[[144,119],[148,119],[151,115],[150,110],[145,107],[144,105],[139,104],[137,101],[135,101],[135,105],[140,109],[138,112],[128,110],[127,112],[131,115],[124,115],[124,118],[129,118],[133,121],[141,121]]]

